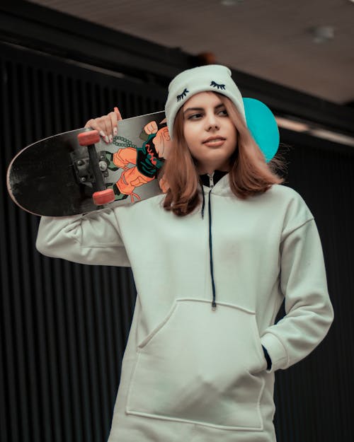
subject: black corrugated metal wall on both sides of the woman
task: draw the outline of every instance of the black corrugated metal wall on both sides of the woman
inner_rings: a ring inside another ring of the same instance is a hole
[[[81,127],[114,105],[125,117],[161,110],[165,90],[10,45],[0,49],[1,442],[104,442],[135,303],[132,275],[42,257],[38,219],[8,198],[5,171],[23,146]],[[286,131],[282,141],[296,146],[287,153],[288,184],[316,217],[336,322],[314,354],[277,373],[278,441],[349,441],[354,155]]]

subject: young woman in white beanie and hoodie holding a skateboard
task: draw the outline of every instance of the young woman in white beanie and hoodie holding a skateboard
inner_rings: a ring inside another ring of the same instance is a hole
[[[333,319],[314,217],[265,162],[229,69],[176,76],[166,118],[165,193],[42,218],[37,247],[132,267],[110,442],[274,442],[274,372],[307,356]],[[119,119],[116,110],[86,125],[109,137]]]

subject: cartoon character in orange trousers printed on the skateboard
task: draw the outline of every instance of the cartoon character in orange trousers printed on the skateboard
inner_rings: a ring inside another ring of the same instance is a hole
[[[166,120],[161,121],[163,124]],[[146,184],[156,178],[164,161],[169,156],[171,138],[166,126],[159,129],[156,121],[147,123],[139,136],[144,141],[142,147],[135,146],[132,141],[122,136],[115,136],[113,144],[121,147],[115,153],[105,151],[105,159],[109,170],[122,168],[122,174],[113,188],[115,200],[125,199],[130,195],[132,202],[140,199],[135,187]],[[132,164],[132,167],[128,167]]]

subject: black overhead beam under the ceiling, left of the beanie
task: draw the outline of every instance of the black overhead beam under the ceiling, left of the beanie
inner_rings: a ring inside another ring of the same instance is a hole
[[[190,58],[181,50],[161,47],[28,1],[1,4],[0,11],[0,35],[7,35],[13,42],[27,40],[27,45],[40,50],[51,48],[61,57],[87,61],[89,41],[89,57],[96,66],[102,66],[104,58],[106,62],[109,60],[106,67],[119,66],[136,74],[135,71],[142,71],[142,54],[145,54],[145,81],[149,72],[167,72],[173,76],[178,66]]]

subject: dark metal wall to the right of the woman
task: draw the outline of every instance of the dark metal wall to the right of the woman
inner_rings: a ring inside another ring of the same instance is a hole
[[[354,152],[305,134],[282,130],[290,146],[287,185],[307,202],[319,229],[335,320],[324,342],[304,361],[276,374],[279,442],[350,438],[354,323]]]

